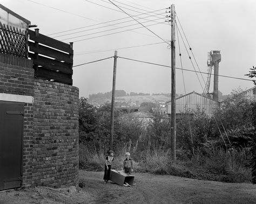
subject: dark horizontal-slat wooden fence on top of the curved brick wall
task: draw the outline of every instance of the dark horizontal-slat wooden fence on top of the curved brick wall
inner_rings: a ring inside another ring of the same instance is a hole
[[[35,77],[72,85],[73,45],[28,30]]]

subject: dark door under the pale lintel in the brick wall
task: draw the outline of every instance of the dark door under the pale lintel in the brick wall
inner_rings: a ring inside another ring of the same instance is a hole
[[[24,104],[0,101],[0,191],[22,182]]]

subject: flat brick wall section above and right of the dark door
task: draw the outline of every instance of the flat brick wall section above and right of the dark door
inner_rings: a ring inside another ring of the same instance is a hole
[[[34,69],[32,62],[0,54],[0,93],[33,96]],[[23,126],[23,185],[32,182],[33,104],[24,103]]]

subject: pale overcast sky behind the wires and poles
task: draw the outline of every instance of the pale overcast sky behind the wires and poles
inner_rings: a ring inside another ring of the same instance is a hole
[[[245,74],[256,66],[256,1],[110,1],[0,0],[0,4],[36,24],[39,33],[73,42],[73,86],[79,88],[80,97],[112,90],[114,51],[117,90],[171,93],[171,25],[166,16],[172,4],[177,14],[176,67],[180,68],[176,93],[203,93],[210,51],[221,53],[219,75],[245,79],[219,76],[221,93],[254,86]]]

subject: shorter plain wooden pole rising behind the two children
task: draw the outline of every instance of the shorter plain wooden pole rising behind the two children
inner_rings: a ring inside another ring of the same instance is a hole
[[[113,70],[113,86],[111,101],[111,129],[109,138],[109,149],[113,150],[113,133],[114,133],[114,97],[116,94],[116,74],[117,74],[117,51],[114,51],[114,70]]]

